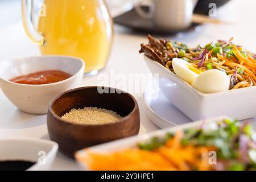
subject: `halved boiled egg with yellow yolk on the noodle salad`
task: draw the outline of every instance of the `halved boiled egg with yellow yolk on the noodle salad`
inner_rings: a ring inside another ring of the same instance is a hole
[[[218,69],[200,70],[179,58],[172,60],[172,67],[177,76],[200,92],[214,93],[229,90],[230,77]]]

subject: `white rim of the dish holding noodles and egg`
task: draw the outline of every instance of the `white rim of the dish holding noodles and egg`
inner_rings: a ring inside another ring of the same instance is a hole
[[[192,85],[188,84],[187,82],[182,80],[180,77],[178,77],[176,74],[172,73],[170,70],[168,70],[166,67],[164,67],[162,64],[160,64],[157,61],[151,59],[150,57],[147,57],[146,55],[144,55],[144,60],[153,61],[154,64],[156,64],[158,67],[161,67],[165,72],[168,72],[169,74],[171,73],[172,76],[177,78],[180,81],[180,83],[177,83],[177,84],[182,84],[183,86],[186,86],[187,88],[191,89],[193,91],[193,93],[197,94],[197,96],[200,96],[200,97],[211,97],[211,96],[218,96],[218,95],[222,95],[222,94],[229,94],[231,92],[237,92],[238,93],[238,92],[243,92],[243,90],[256,89],[256,86],[250,86],[250,87],[246,87],[246,88],[240,88],[240,89],[235,89],[235,90],[225,90],[225,91],[216,92],[216,93],[203,93],[203,92],[200,92],[199,90],[193,88]]]

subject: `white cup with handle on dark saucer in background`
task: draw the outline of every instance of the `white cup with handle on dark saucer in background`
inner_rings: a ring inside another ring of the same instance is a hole
[[[142,18],[150,18],[156,27],[181,30],[191,26],[193,10],[198,0],[141,0],[135,7]],[[147,5],[149,11],[142,9]]]

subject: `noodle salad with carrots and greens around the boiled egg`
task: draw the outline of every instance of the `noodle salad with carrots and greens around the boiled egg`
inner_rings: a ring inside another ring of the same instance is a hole
[[[230,88],[239,89],[256,85],[256,55],[246,51],[242,46],[233,43],[233,38],[217,40],[188,48],[180,42],[170,40],[155,40],[148,36],[148,44],[141,44],[140,53],[158,61],[164,67],[174,72],[172,59],[180,58],[192,64],[194,68],[205,72],[218,69],[230,77]],[[175,72],[174,72],[175,73]]]

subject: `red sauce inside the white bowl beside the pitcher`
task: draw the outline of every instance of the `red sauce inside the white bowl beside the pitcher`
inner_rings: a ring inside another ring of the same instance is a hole
[[[69,73],[63,71],[47,70],[14,77],[11,78],[9,81],[15,82],[17,84],[43,85],[63,81],[71,76],[72,75],[70,75]]]

